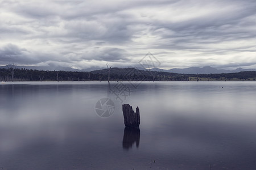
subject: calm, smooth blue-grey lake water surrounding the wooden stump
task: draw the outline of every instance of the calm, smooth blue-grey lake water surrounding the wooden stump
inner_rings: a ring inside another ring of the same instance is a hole
[[[0,169],[256,169],[255,101],[256,82],[0,82]]]

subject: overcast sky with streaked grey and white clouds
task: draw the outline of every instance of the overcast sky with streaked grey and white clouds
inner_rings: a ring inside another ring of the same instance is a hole
[[[0,0],[0,65],[256,69],[255,0]]]

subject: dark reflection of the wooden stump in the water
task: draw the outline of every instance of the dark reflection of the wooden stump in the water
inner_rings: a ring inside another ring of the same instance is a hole
[[[139,128],[126,127],[123,132],[123,149],[129,150],[136,142],[136,147],[139,147],[139,137],[141,136]]]

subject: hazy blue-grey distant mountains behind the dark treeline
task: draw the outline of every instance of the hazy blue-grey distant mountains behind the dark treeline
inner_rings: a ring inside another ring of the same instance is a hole
[[[7,69],[7,66],[0,66],[0,69]],[[60,66],[15,66],[17,69],[32,69],[32,70],[49,70],[49,71],[96,71],[96,70],[102,70],[104,68],[100,67],[91,67],[89,69],[72,69],[70,67],[60,67]],[[139,70],[145,70],[143,68],[137,68]],[[256,69],[242,69],[238,68],[236,70],[223,70],[223,69],[215,69],[210,66],[206,67],[189,67],[186,69],[169,69],[169,70],[164,70],[164,69],[150,69],[151,71],[160,71],[160,72],[167,72],[167,73],[179,73],[179,74],[221,74],[221,73],[239,73],[241,71],[256,71]]]

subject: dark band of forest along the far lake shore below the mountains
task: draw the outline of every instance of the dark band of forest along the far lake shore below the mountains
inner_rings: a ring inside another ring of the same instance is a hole
[[[13,75],[13,76],[12,76]],[[256,71],[244,71],[228,74],[177,74],[158,71],[137,70],[134,68],[113,68],[110,80],[143,81],[203,81],[203,80],[255,80]],[[43,71],[28,69],[0,69],[0,81],[104,81],[108,80],[108,70],[91,72],[79,71]]]

